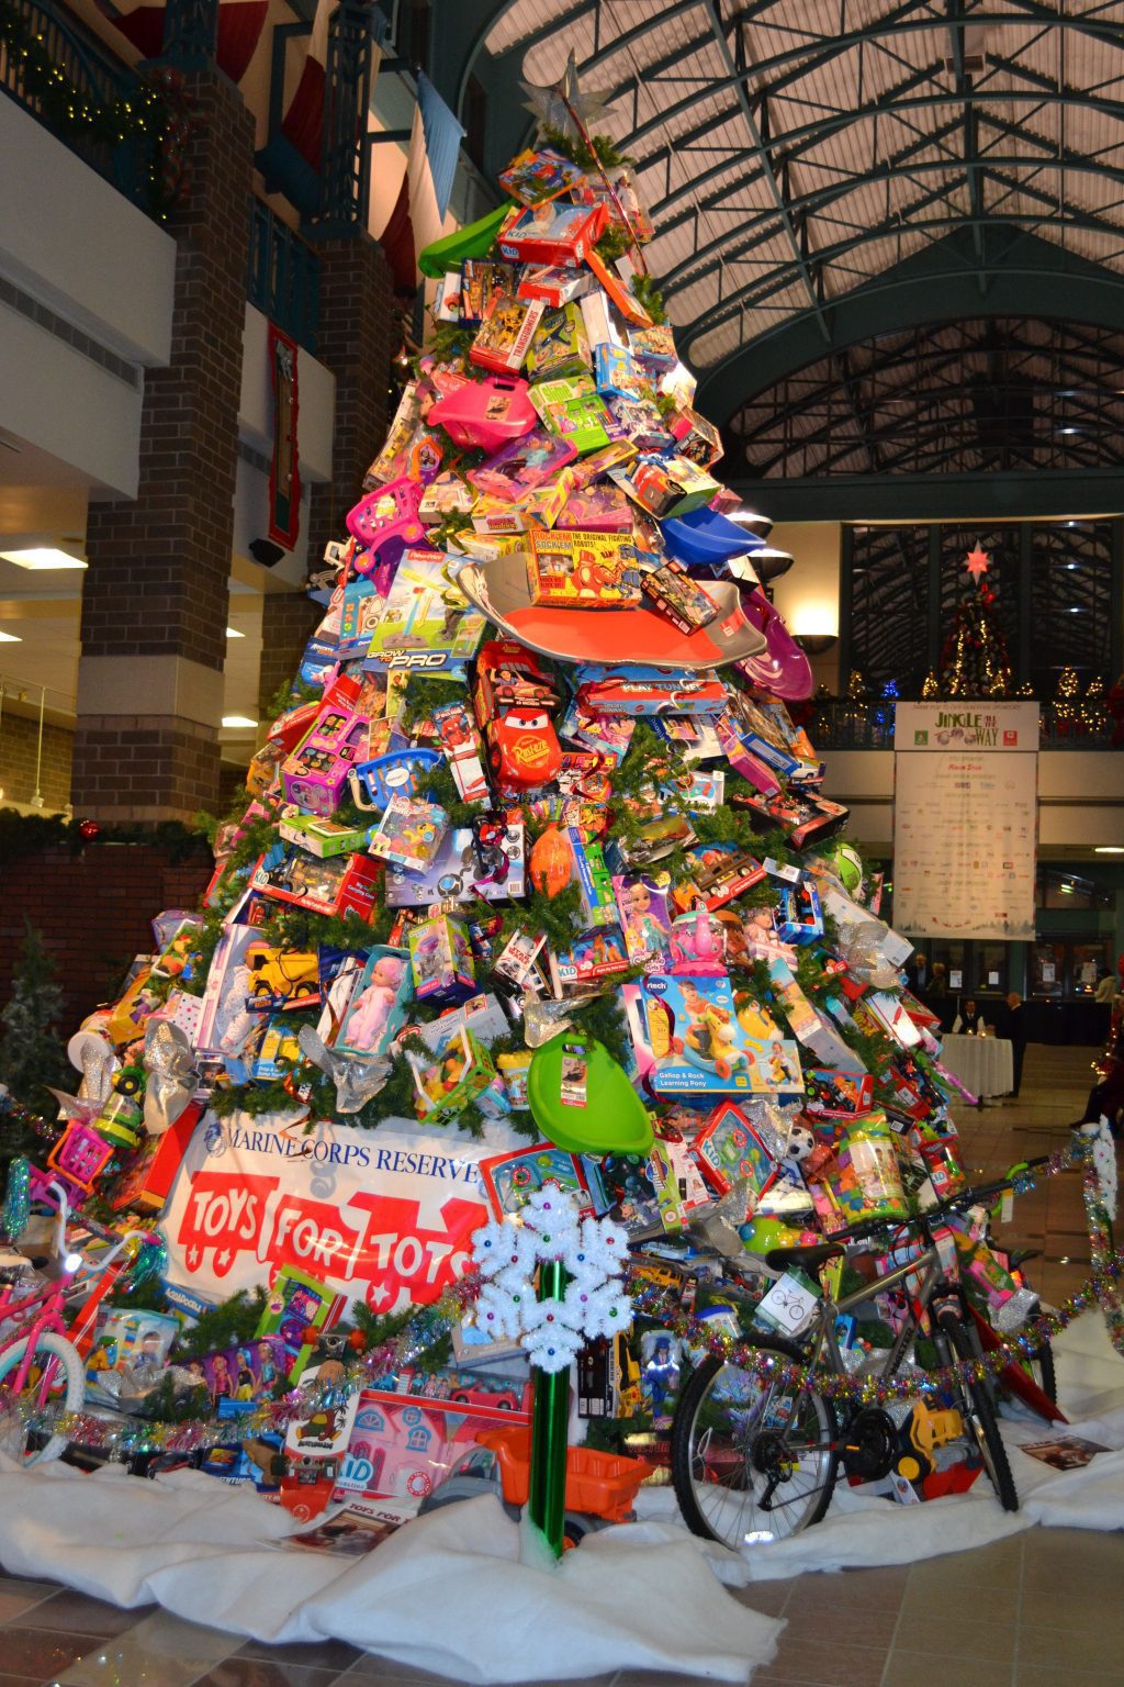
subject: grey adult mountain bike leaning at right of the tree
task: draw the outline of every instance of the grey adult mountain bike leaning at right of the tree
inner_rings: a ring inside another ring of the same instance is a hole
[[[1026,1169],[1041,1164],[1045,1159],[1031,1161]],[[846,1405],[838,1412],[832,1400],[817,1390],[816,1368],[848,1377],[838,1321],[875,1294],[907,1285],[905,1319],[875,1378],[888,1380],[898,1372],[925,1318],[942,1368],[977,1360],[982,1346],[957,1280],[954,1248],[947,1235],[937,1237],[935,1230],[944,1215],[1013,1186],[1004,1178],[950,1194],[907,1221],[859,1223],[838,1232],[829,1242],[773,1248],[765,1255],[770,1270],[821,1274],[856,1242],[878,1237],[886,1250],[903,1233],[920,1242],[920,1248],[910,1248],[908,1260],[864,1282],[856,1292],[836,1296],[824,1285],[811,1323],[799,1331],[799,1343],[772,1333],[752,1336],[757,1353],[773,1355],[782,1368],[806,1368],[804,1382],[785,1383],[721,1358],[706,1358],[693,1372],[671,1431],[672,1483],[693,1533],[735,1550],[747,1544],[782,1540],[821,1522],[841,1463],[848,1474],[866,1481],[890,1474],[898,1451],[898,1427],[891,1415],[876,1405]],[[1006,1512],[1016,1512],[1018,1493],[996,1422],[994,1383],[955,1382],[947,1392],[999,1503]]]

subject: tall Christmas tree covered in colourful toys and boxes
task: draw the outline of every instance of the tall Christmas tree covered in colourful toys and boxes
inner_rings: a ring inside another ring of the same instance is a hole
[[[204,911],[76,1034],[24,1174],[94,1243],[160,1225],[163,1299],[103,1287],[84,1326],[118,1404],[138,1353],[194,1353],[212,1409],[292,1382],[544,1184],[630,1243],[718,1216],[760,1253],[962,1178],[630,172],[573,88],[543,111],[502,213],[423,256],[430,348]]]

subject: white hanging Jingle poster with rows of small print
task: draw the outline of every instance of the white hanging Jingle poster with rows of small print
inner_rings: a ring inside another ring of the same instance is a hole
[[[908,936],[1035,936],[1038,703],[898,703],[893,923]]]

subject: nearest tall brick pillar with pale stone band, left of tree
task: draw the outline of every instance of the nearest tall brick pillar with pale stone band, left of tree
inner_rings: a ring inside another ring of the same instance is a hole
[[[221,73],[184,81],[172,361],[145,378],[138,496],[91,503],[86,533],[72,801],[103,820],[187,818],[219,793],[253,118]]]

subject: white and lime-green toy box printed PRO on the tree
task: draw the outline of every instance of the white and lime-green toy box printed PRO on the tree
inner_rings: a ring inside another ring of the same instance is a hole
[[[484,628],[484,616],[447,577],[445,557],[435,550],[408,550],[371,636],[364,668],[455,673],[475,656]]]

